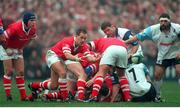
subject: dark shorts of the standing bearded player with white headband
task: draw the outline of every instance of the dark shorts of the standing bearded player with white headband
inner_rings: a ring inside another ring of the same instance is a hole
[[[173,58],[173,59],[165,59],[165,60],[162,60],[162,61],[157,61],[156,62],[156,65],[160,65],[160,66],[163,66],[165,68],[169,67],[169,66],[175,66],[177,64],[180,64],[180,59],[176,59],[176,58]]]

